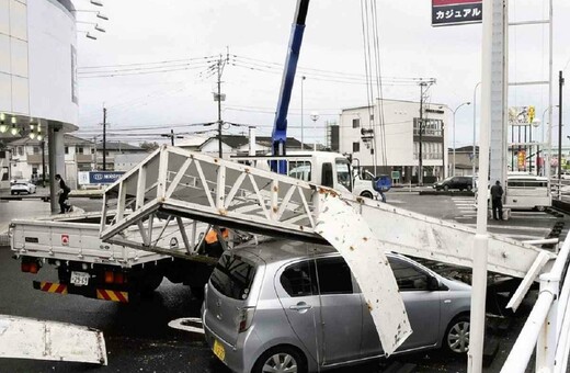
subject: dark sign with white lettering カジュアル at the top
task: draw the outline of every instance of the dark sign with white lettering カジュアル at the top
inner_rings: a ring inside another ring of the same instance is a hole
[[[482,0],[432,0],[432,26],[480,23]]]

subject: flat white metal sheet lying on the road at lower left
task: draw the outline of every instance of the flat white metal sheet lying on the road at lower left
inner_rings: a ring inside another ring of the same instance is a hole
[[[0,358],[107,364],[102,331],[9,315],[0,315]]]

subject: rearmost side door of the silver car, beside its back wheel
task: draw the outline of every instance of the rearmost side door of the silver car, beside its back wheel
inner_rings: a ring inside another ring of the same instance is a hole
[[[315,261],[303,260],[283,268],[275,276],[275,289],[294,338],[316,361],[319,361],[318,358],[322,361],[320,299]]]

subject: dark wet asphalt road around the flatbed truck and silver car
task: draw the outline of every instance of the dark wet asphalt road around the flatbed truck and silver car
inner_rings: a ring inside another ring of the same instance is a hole
[[[392,202],[402,207],[419,206],[421,212],[437,211],[438,217],[453,218],[453,204],[441,199],[418,195],[392,195]],[[447,201],[447,200],[445,200]],[[9,202],[11,208],[21,202]],[[39,202],[38,202],[39,203]],[[100,200],[77,200],[86,211],[99,211]],[[3,204],[4,207],[5,204]],[[418,207],[417,207],[418,208]],[[415,210],[415,208],[414,208]],[[417,211],[417,210],[415,210]],[[419,211],[419,212],[420,212]],[[0,221],[5,218],[0,204]],[[1,223],[1,222],[0,222]],[[545,222],[546,224],[546,222]],[[55,295],[32,289],[32,280],[57,280],[49,267],[38,275],[20,272],[19,262],[11,258],[9,248],[0,248],[0,314],[35,317],[84,325],[104,332],[109,365],[0,359],[3,372],[210,372],[229,373],[203,342],[203,336],[175,330],[168,323],[180,317],[198,317],[201,301],[189,289],[164,280],[153,296],[137,304],[116,304],[89,299],[77,295]],[[529,301],[531,302],[531,301]],[[532,302],[531,302],[532,303]],[[486,372],[499,372],[517,329],[523,325],[528,307],[513,319],[512,327],[502,334],[500,357]],[[415,372],[466,372],[466,361],[451,359],[438,352],[418,353],[395,360],[417,364]],[[391,363],[395,360],[390,360]],[[385,362],[372,362],[334,373],[385,371]],[[532,366],[532,365],[531,365]]]

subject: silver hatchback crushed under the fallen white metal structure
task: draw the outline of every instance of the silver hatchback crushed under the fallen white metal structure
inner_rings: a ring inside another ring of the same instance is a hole
[[[469,346],[470,286],[388,255],[413,334],[397,351]],[[206,285],[206,340],[236,372],[315,372],[383,355],[358,284],[332,248],[274,240],[224,253]]]

